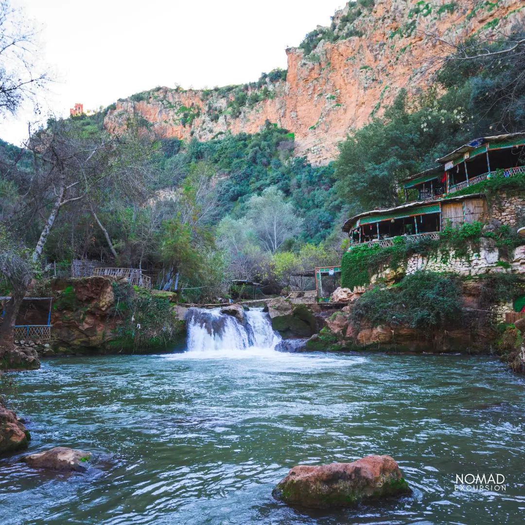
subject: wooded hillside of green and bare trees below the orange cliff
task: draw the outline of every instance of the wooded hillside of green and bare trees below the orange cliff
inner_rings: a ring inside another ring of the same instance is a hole
[[[269,119],[257,132],[205,141],[166,137],[134,113],[116,132],[107,128],[114,107],[49,120],[24,150],[1,144],[2,242],[30,254],[37,271],[102,260],[142,268],[159,287],[177,281],[187,299],[224,296],[232,279],[277,292],[290,271],[339,264],[343,220],[398,204],[403,177],[478,136],[525,129],[525,37],[516,20],[511,34],[472,37],[444,55],[426,89],[399,90],[322,166]],[[326,36],[316,35],[301,44],[304,54]],[[267,77],[260,89],[275,80]],[[251,103],[233,92],[230,109]]]

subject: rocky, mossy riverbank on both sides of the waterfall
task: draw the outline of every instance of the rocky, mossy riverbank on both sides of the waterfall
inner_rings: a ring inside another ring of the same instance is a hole
[[[173,348],[176,341],[184,343],[188,308],[177,304],[173,292],[135,289],[125,279],[113,277],[54,279],[44,287],[34,293],[53,297],[52,339],[17,341],[10,369],[34,369],[38,359],[54,356],[158,351]],[[492,353],[504,355],[503,359],[514,363],[513,370],[520,371],[525,367],[520,361],[521,329],[512,325],[507,330],[501,322],[501,304],[487,308],[481,303],[487,287],[482,278],[464,281],[458,318],[430,330],[403,322],[361,319],[356,323],[352,312],[367,288],[339,288],[329,303],[277,297],[249,306],[264,306],[268,311],[272,327],[283,338],[280,351]],[[243,324],[245,309],[244,304],[232,304],[222,312]],[[166,325],[170,338],[162,339],[158,334],[165,332]]]

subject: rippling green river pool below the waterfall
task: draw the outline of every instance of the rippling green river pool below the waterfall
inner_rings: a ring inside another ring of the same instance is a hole
[[[14,374],[30,451],[90,450],[87,474],[0,460],[0,523],[523,523],[525,382],[462,356],[273,351],[100,356]],[[304,510],[271,490],[294,465],[389,454],[414,496]],[[455,491],[499,473],[506,492]]]

